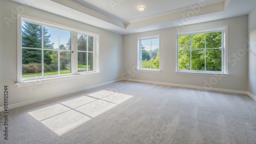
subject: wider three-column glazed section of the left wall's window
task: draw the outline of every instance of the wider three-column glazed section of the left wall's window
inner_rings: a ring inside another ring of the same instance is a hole
[[[71,32],[22,21],[22,77],[71,73]]]

